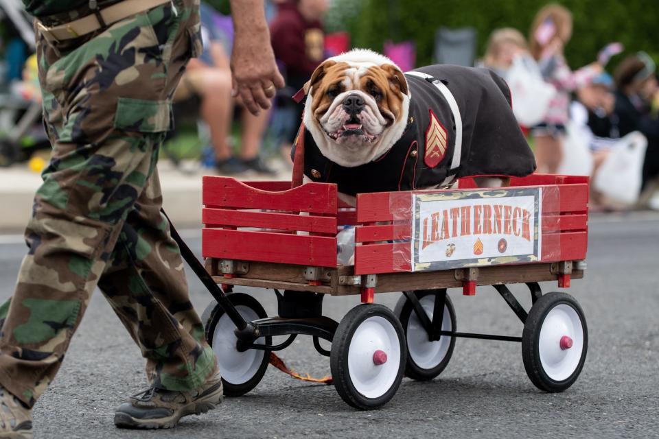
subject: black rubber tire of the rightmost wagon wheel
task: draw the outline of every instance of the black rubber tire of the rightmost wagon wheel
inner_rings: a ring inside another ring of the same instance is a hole
[[[579,320],[581,320],[581,327],[583,329],[583,349],[579,363],[574,372],[562,381],[555,381],[548,377],[542,363],[540,362],[540,329],[542,323],[546,318],[549,311],[557,305],[568,305],[575,310]],[[538,299],[531,310],[527,321],[524,323],[524,331],[522,332],[522,361],[524,362],[524,369],[531,382],[540,390],[545,392],[563,392],[570,385],[577,381],[577,377],[581,373],[583,364],[586,362],[586,353],[588,351],[588,326],[586,325],[586,318],[583,316],[583,310],[579,303],[573,296],[565,293],[551,292],[547,293]]]

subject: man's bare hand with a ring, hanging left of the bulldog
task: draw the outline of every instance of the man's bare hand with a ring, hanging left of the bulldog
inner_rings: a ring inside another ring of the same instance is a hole
[[[232,95],[240,95],[249,112],[258,115],[261,108],[270,108],[270,99],[275,97],[277,88],[284,88],[285,84],[277,69],[267,29],[236,31],[231,54],[231,73]]]

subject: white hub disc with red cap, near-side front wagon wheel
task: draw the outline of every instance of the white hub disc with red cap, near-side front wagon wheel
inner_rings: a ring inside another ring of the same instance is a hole
[[[396,380],[400,361],[400,341],[389,320],[373,316],[357,327],[348,348],[348,373],[360,394],[384,395]]]

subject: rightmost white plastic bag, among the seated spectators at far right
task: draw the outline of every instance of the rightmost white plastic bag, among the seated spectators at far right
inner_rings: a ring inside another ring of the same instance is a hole
[[[620,139],[595,174],[595,190],[616,202],[632,205],[638,200],[647,139],[638,131]]]

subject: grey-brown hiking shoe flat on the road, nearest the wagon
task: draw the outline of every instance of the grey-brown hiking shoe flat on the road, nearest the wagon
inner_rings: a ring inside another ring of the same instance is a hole
[[[188,392],[174,392],[150,387],[119,406],[115,425],[119,428],[172,428],[189,414],[213,410],[222,402],[222,379],[216,375],[202,388]]]

